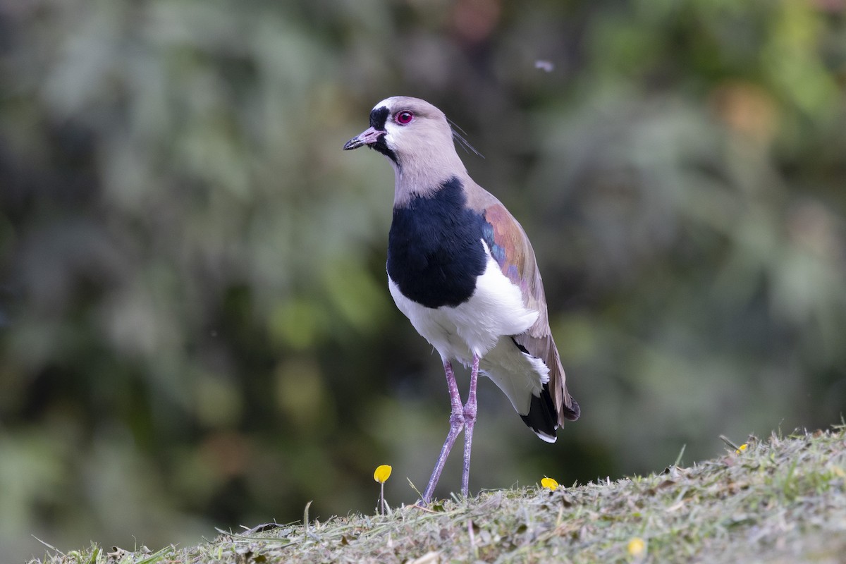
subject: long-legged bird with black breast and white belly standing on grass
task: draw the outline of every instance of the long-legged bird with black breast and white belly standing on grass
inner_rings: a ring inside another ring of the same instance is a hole
[[[422,501],[429,503],[464,430],[461,493],[468,497],[470,451],[486,375],[537,436],[556,440],[579,419],[552,339],[541,273],[523,227],[475,183],[455,148],[464,141],[445,114],[420,98],[392,96],[370,112],[370,127],[343,145],[382,153],[394,172],[387,239],[388,289],[411,325],[440,354],[450,399],[449,431]],[[453,362],[470,368],[462,403]]]

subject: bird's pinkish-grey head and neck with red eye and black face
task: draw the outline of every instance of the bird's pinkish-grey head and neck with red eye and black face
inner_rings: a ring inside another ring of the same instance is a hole
[[[466,173],[453,145],[453,129],[441,110],[420,98],[393,96],[371,110],[370,128],[343,145],[365,145],[390,159],[400,184],[425,191],[446,178]]]

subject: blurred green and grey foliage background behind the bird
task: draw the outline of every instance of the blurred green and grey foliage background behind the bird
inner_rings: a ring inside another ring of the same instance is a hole
[[[395,94],[486,156],[582,406],[551,446],[481,381],[473,490],[840,421],[843,0],[0,0],[4,561],[415,501],[446,386],[341,151]]]

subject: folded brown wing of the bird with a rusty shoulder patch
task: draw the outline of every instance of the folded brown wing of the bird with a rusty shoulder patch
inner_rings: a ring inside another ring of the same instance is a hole
[[[531,248],[529,238],[514,216],[498,201],[488,205],[484,215],[490,226],[486,230],[486,238],[494,260],[497,260],[503,274],[520,288],[526,307],[538,312],[535,324],[527,331],[514,335],[514,342],[547,364],[549,391],[558,413],[558,424],[563,424],[564,419],[579,419],[579,403],[567,391],[567,378],[558,356],[558,348],[552,340],[547,298],[543,293],[541,272],[537,268],[535,251]]]

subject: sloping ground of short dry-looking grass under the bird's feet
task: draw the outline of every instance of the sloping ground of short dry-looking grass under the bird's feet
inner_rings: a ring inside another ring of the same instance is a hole
[[[306,508],[305,525],[221,534],[156,552],[55,551],[32,563],[842,562],[844,429],[772,435],[692,468],[554,493],[485,491],[467,501],[326,523],[310,521]],[[629,553],[632,539],[645,542],[640,555]]]

